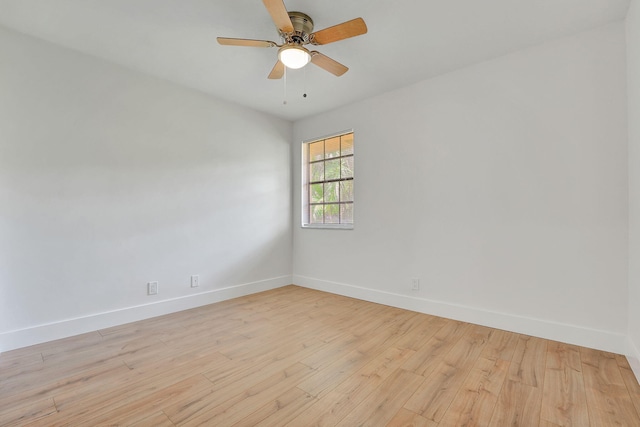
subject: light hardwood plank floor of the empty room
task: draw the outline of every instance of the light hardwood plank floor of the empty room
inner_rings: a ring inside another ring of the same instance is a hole
[[[624,357],[296,286],[0,355],[2,426],[640,426]]]

